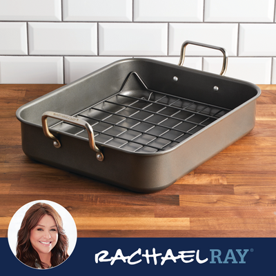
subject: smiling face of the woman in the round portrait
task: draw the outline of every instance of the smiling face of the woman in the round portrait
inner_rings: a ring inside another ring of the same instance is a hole
[[[57,225],[50,215],[44,215],[37,226],[30,230],[30,243],[39,255],[50,253],[57,244],[57,239]]]

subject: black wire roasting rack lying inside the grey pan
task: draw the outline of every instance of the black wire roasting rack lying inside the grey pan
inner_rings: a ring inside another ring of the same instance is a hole
[[[92,126],[95,141],[130,152],[157,152],[177,146],[230,109],[150,90],[131,72],[119,92],[75,114]],[[88,138],[86,130],[59,121],[57,132]]]

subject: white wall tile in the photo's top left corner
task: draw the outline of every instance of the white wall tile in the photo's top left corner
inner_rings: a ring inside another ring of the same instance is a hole
[[[0,0],[0,20],[61,21],[61,0]]]

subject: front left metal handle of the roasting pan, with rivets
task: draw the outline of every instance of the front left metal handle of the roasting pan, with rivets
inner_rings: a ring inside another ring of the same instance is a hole
[[[50,138],[54,141],[53,144],[56,148],[60,148],[61,143],[60,143],[59,139],[57,139],[57,137],[52,135],[52,133],[49,131],[48,124],[47,124],[47,117],[51,117],[51,118],[54,118],[54,119],[59,119],[61,121],[67,121],[68,123],[75,124],[77,126],[81,126],[83,128],[86,128],[86,130],[88,132],[88,139],[89,139],[90,148],[92,148],[92,150],[94,150],[96,152],[97,159],[99,161],[103,161],[103,153],[96,146],[93,129],[90,126],[90,124],[88,124],[87,121],[84,121],[83,119],[79,119],[79,118],[76,118],[76,117],[64,115],[64,114],[58,113],[58,112],[52,112],[52,111],[44,112],[42,117],[41,117],[43,133],[44,133],[44,135],[46,135],[46,137],[48,137],[48,138]]]

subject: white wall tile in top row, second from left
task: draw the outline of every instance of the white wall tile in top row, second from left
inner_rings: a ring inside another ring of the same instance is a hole
[[[64,21],[132,21],[132,0],[63,0]]]

